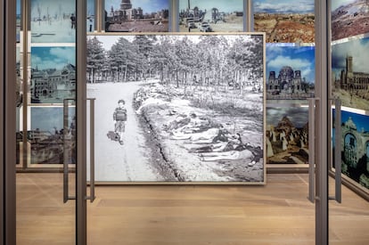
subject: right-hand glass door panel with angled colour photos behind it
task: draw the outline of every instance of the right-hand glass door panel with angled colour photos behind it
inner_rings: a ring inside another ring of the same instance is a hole
[[[330,244],[366,244],[369,241],[369,3],[330,1],[331,53],[329,94],[340,100],[329,106],[332,120],[332,161],[330,174],[341,176],[329,192],[341,188],[341,203],[329,202]],[[336,151],[336,153],[334,153]],[[331,175],[331,176],[332,176]],[[337,195],[336,195],[337,196]]]

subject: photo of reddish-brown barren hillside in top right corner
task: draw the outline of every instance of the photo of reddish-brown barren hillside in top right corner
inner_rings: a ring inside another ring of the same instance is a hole
[[[332,40],[369,33],[368,0],[332,2]]]

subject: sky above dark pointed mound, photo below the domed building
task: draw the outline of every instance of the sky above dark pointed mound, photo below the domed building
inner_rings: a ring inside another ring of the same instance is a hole
[[[308,121],[307,107],[274,107],[266,108],[266,125],[277,126],[286,116],[294,127],[304,127]]]

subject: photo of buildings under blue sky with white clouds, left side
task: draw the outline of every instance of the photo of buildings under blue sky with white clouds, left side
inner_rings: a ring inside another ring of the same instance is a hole
[[[62,103],[76,94],[76,48],[31,48],[31,103]]]

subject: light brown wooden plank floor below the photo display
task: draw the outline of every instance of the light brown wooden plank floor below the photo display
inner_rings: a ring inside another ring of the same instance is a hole
[[[369,244],[369,202],[343,187],[330,203],[330,244]],[[88,244],[314,244],[307,175],[265,186],[98,186]],[[74,200],[60,174],[17,175],[17,244],[74,244]]]

